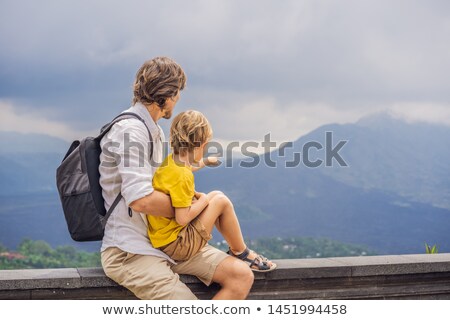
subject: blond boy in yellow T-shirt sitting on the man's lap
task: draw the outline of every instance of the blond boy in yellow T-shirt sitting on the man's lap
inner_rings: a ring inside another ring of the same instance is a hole
[[[209,122],[198,111],[182,112],[173,120],[173,153],[155,172],[153,187],[170,195],[175,218],[147,216],[150,241],[172,259],[185,261],[207,244],[216,226],[230,247],[230,255],[247,262],[253,271],[272,271],[276,264],[245,245],[231,201],[220,191],[208,195],[195,191],[192,172],[217,164],[215,157],[203,159],[211,137]]]

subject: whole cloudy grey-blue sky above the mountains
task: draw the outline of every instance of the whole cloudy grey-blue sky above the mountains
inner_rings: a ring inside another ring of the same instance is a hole
[[[448,0],[1,0],[0,130],[95,133],[161,55],[188,76],[177,110],[204,112],[217,139],[380,111],[450,125],[449,40]]]

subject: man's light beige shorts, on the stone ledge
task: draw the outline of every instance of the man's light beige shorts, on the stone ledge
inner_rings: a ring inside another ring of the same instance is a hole
[[[132,254],[116,247],[102,252],[106,275],[146,300],[194,300],[197,297],[180,281],[178,274],[190,274],[210,285],[217,266],[227,257],[225,252],[207,244],[191,259],[171,264],[155,256]]]

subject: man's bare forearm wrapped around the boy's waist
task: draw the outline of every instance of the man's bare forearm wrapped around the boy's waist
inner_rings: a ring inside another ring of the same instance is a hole
[[[130,208],[136,212],[156,217],[175,217],[175,211],[172,207],[170,197],[167,194],[156,190],[143,198],[131,202]]]

